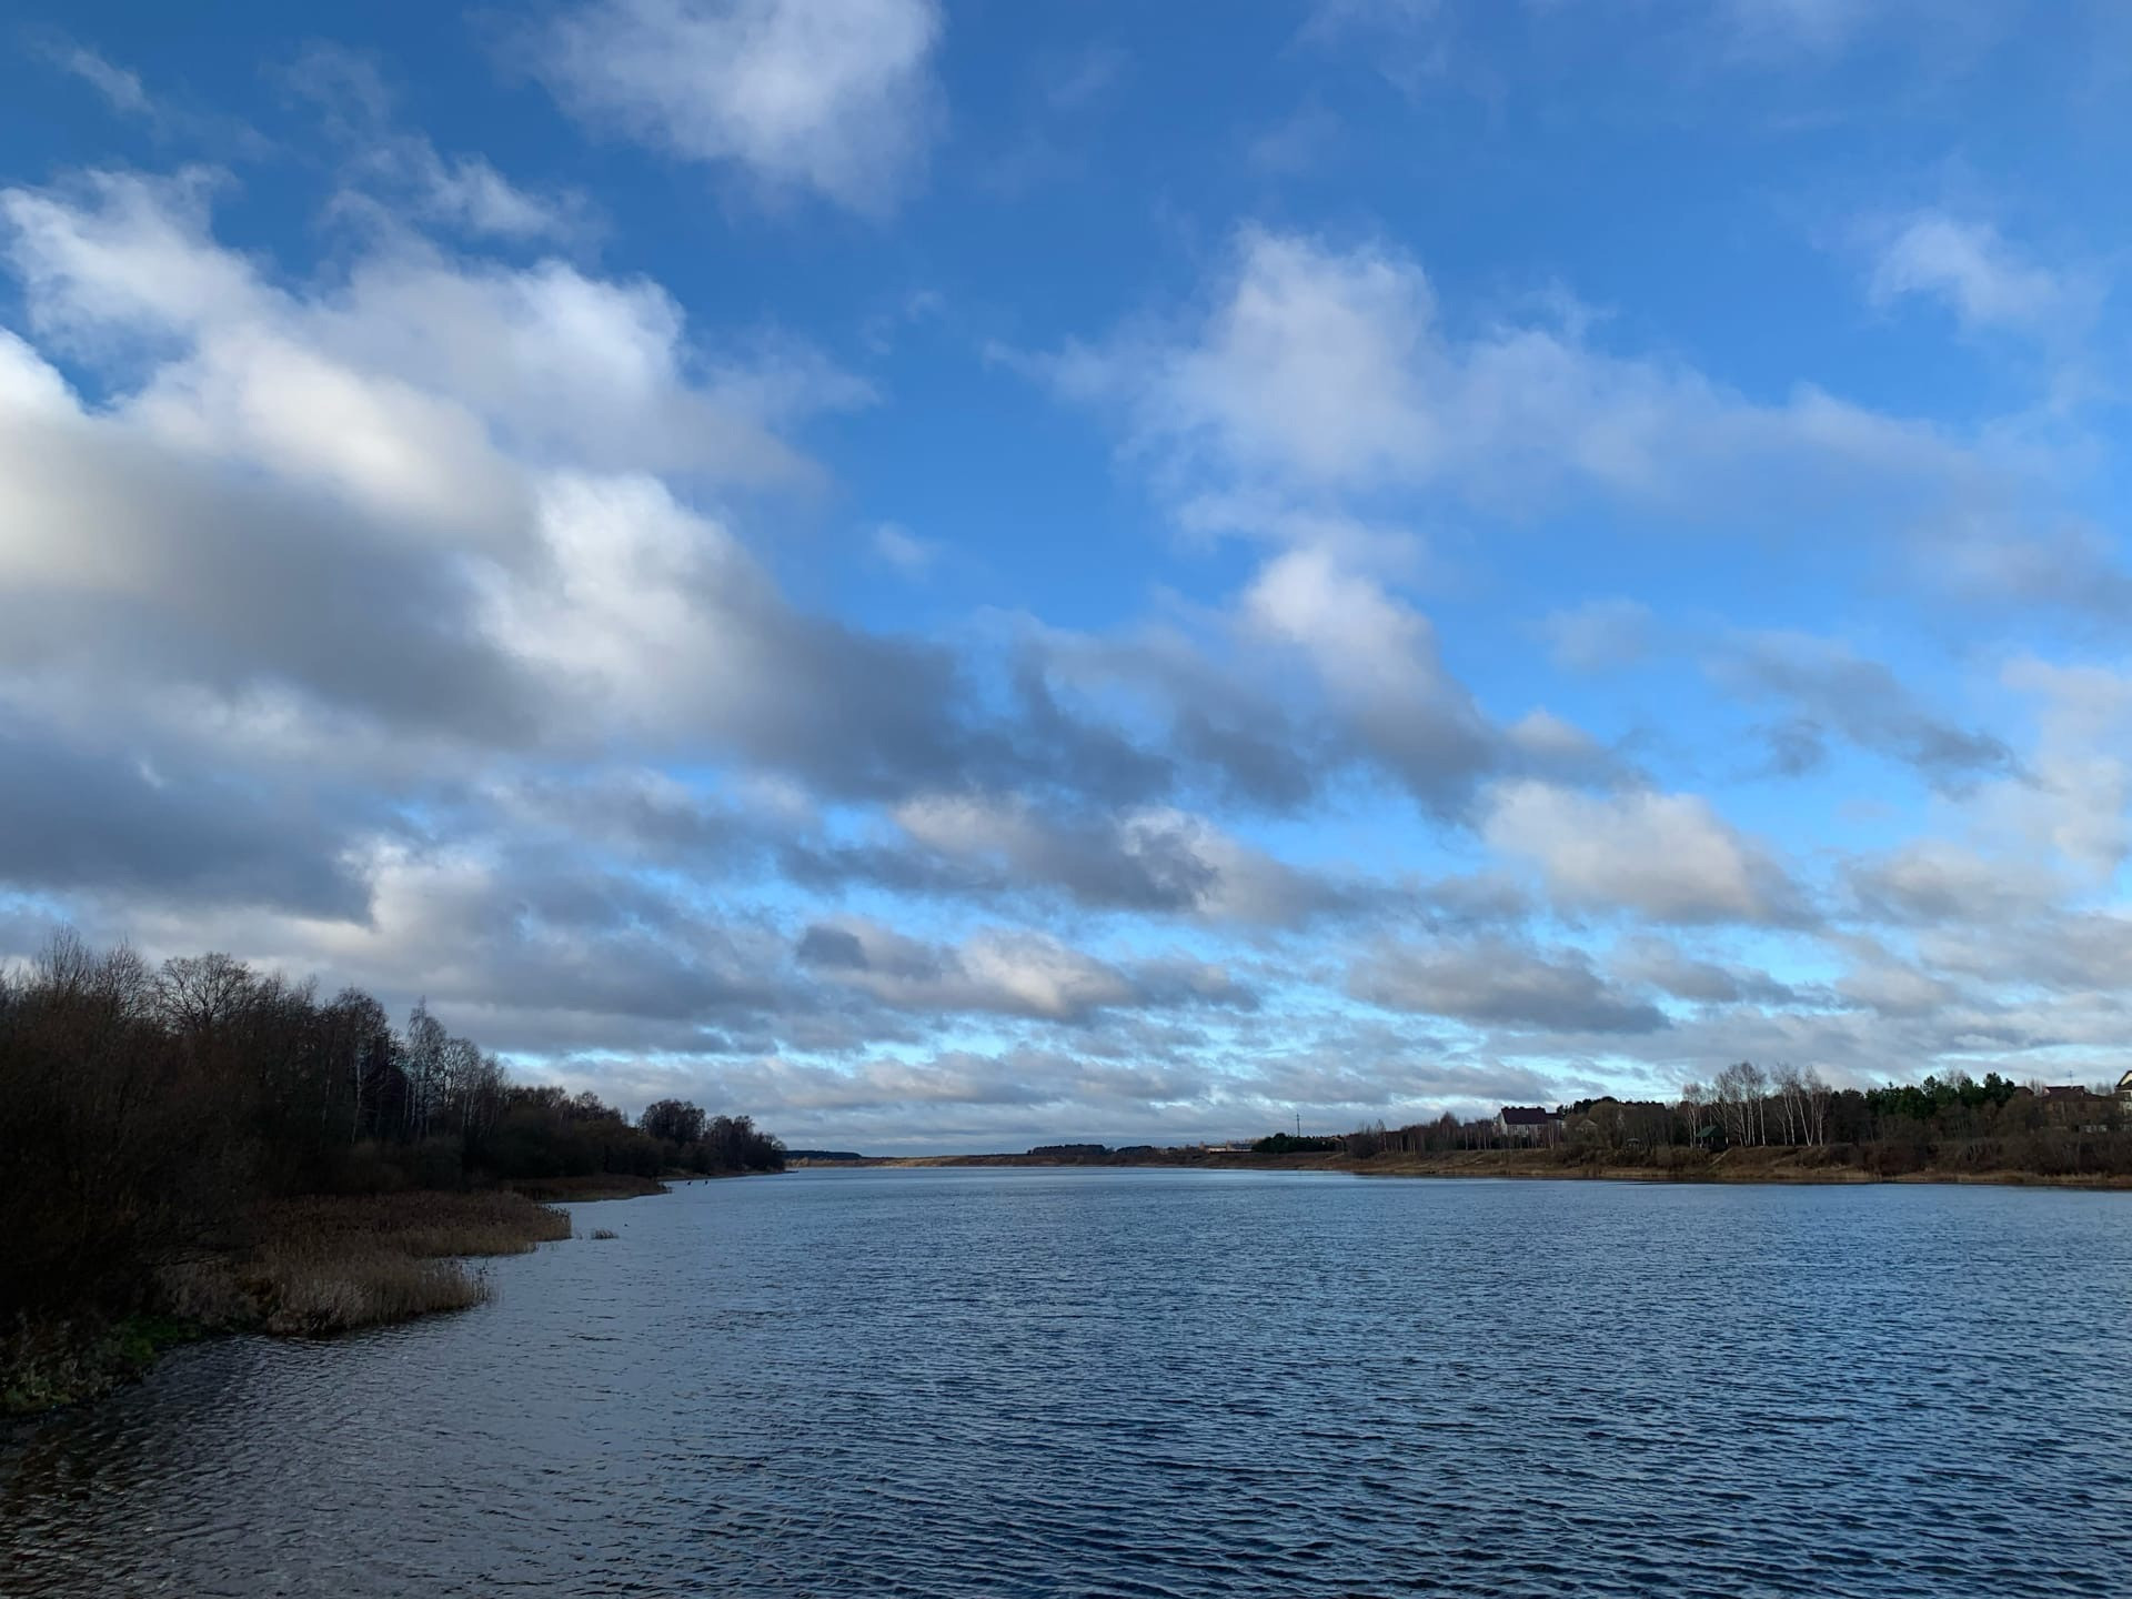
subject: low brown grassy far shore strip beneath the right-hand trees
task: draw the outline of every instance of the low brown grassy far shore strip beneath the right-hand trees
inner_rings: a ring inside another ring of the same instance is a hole
[[[1443,1156],[1256,1156],[1245,1151],[1175,1149],[1130,1158],[1062,1156],[861,1156],[857,1160],[795,1160],[793,1170],[942,1168],[942,1166],[1147,1166],[1162,1170],[1324,1170],[1354,1177],[1514,1177],[1529,1181],[1603,1183],[1774,1183],[1774,1185],[1863,1185],[1863,1183],[1957,1183],[1987,1188],[2083,1188],[2132,1190],[2123,1173],[2030,1173],[2030,1170],[1872,1170],[1838,1162],[1827,1149],[1731,1149],[1727,1153],[1671,1164],[1618,1164],[1567,1158],[1565,1149],[1460,1149]]]

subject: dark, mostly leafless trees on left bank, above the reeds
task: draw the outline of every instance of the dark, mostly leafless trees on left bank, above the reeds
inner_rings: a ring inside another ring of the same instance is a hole
[[[748,1117],[514,1083],[426,1004],[72,934],[0,970],[0,1322],[130,1311],[273,1198],[782,1164]]]

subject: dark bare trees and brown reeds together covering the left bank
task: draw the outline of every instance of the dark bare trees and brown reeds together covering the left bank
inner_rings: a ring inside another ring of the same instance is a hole
[[[512,1083],[416,1004],[228,955],[55,938],[0,972],[0,1409],[98,1392],[198,1328],[324,1335],[480,1303],[542,1200],[778,1170],[746,1117]],[[518,1185],[533,1190],[518,1192]]]

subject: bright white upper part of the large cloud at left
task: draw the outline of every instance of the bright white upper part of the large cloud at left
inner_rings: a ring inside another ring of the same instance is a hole
[[[868,397],[791,341],[714,362],[657,284],[559,260],[461,262],[397,235],[343,284],[292,294],[213,241],[215,183],[96,173],[0,194],[32,328],[119,384],[147,356],[130,403],[200,448],[339,475],[358,495],[397,492],[407,463],[431,456],[450,497],[478,463],[469,433],[533,461],[791,482],[806,467],[763,420]]]

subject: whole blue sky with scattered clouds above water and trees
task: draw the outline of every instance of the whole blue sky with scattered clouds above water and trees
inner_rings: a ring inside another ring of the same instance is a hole
[[[2111,0],[30,0],[0,959],[881,1153],[2115,1079]]]

